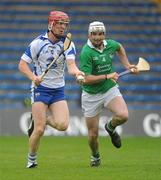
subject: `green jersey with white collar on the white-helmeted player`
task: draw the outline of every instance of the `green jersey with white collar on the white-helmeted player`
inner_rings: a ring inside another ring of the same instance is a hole
[[[102,51],[92,47],[88,40],[82,48],[80,55],[80,69],[86,75],[110,74],[113,71],[112,61],[115,53],[120,49],[120,44],[114,40],[104,41]],[[105,93],[116,83],[111,79],[102,80],[94,84],[84,84],[82,89],[89,94]]]

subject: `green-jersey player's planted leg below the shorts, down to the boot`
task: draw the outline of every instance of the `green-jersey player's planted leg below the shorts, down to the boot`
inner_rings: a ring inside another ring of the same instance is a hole
[[[90,165],[99,166],[101,163],[98,141],[99,115],[95,117],[86,117],[86,124],[88,129],[88,144],[91,149]]]

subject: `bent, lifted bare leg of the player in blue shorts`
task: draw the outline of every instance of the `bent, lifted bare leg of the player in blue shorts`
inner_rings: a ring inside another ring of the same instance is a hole
[[[65,131],[69,125],[69,109],[67,102],[61,100],[49,107],[51,115],[47,117],[47,124],[59,131]]]

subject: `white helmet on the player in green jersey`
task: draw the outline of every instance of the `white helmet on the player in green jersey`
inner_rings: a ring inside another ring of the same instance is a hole
[[[106,33],[106,28],[103,24],[103,22],[94,21],[89,24],[88,28],[88,34],[91,34],[92,32],[104,32]]]

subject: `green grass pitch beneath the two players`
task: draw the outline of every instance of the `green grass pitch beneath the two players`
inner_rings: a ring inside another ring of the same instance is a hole
[[[38,168],[26,169],[27,137],[0,137],[1,180],[159,180],[161,139],[129,137],[116,149],[100,138],[102,165],[89,167],[87,137],[43,137]]]

